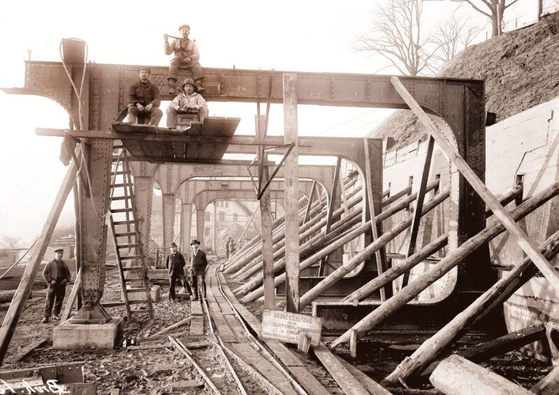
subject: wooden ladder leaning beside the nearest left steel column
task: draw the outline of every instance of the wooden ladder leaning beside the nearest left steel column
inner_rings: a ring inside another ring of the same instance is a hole
[[[126,306],[128,322],[132,322],[133,313],[149,313],[154,319],[150,282],[147,278],[147,267],[140,237],[136,200],[132,188],[132,177],[126,149],[115,145],[118,154],[112,156],[110,195],[110,229],[112,241],[117,255],[117,269],[122,284],[122,295]],[[117,217],[117,218],[115,218]],[[123,262],[126,266],[123,267]],[[126,274],[124,273],[126,272]],[[127,283],[139,282],[138,288],[128,287]],[[129,300],[129,295],[145,292],[145,299]],[[131,309],[131,304],[147,304],[145,309]]]

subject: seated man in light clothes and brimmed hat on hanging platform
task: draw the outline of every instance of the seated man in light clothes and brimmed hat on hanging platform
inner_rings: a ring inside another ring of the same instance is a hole
[[[168,128],[177,128],[177,114],[196,115],[201,122],[208,117],[208,103],[196,92],[196,85],[191,78],[184,80],[180,87],[180,94],[167,107]]]

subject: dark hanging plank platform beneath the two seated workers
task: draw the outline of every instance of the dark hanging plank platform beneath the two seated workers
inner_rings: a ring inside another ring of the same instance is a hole
[[[201,137],[231,137],[240,122],[239,118],[206,117],[203,124],[193,123],[186,131],[173,131],[148,125],[131,125],[121,122],[112,124],[115,132],[146,133],[147,135],[188,135]],[[228,144],[205,142],[165,142],[154,140],[122,140],[131,156],[150,162],[219,161],[223,158]]]

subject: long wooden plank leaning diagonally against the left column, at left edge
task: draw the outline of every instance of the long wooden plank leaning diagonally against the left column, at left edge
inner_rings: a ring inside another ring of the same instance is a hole
[[[78,158],[80,157],[81,155],[78,151]],[[78,168],[76,167],[75,162],[71,161],[68,165],[68,170],[66,170],[66,176],[64,177],[55,198],[55,202],[52,204],[50,213],[45,221],[45,225],[43,225],[43,230],[41,230],[41,234],[37,239],[37,244],[34,248],[33,254],[25,267],[20,285],[17,287],[17,291],[12,299],[10,308],[8,309],[8,312],[2,322],[2,327],[0,328],[0,365],[6,356],[13,332],[15,331],[15,326],[17,325],[17,321],[20,320],[23,308],[25,307],[25,301],[29,296],[29,292],[31,292],[31,287],[33,286],[33,280],[37,273],[37,269],[41,264],[41,260],[43,260],[45,251],[47,251],[50,238],[52,237],[52,232],[55,231],[58,218],[64,208],[66,198],[68,198],[68,194],[73,188],[77,175]]]

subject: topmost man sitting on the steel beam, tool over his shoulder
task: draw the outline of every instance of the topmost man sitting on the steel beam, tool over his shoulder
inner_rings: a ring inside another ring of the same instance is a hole
[[[202,87],[202,66],[200,66],[200,52],[198,46],[193,40],[188,38],[190,34],[190,27],[187,24],[182,24],[179,27],[180,38],[174,38],[169,44],[168,34],[164,34],[165,39],[165,54],[170,55],[175,53],[175,57],[171,59],[169,65],[168,84],[169,94],[176,94],[176,84],[180,80],[180,69],[189,69],[192,73],[192,79],[196,83],[198,92],[203,93],[205,89]]]

